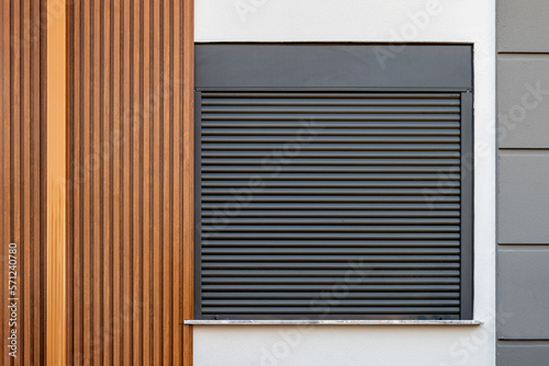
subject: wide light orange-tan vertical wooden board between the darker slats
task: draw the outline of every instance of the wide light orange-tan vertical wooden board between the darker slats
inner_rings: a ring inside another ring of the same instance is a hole
[[[47,364],[66,364],[66,9],[47,13]],[[55,82],[53,82],[55,80]]]

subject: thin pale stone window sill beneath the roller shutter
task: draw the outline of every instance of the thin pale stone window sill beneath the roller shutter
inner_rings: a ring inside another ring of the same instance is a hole
[[[186,320],[186,325],[482,325],[480,320]]]

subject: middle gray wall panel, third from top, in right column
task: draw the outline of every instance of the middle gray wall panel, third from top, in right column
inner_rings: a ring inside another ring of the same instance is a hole
[[[549,243],[549,151],[500,152],[497,231],[500,243]]]

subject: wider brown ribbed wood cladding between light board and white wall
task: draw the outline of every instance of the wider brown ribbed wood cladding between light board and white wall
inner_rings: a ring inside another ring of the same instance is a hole
[[[186,8],[68,9],[68,364],[183,362]]]

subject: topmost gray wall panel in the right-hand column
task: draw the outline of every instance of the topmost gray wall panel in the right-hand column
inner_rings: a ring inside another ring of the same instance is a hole
[[[548,14],[547,0],[498,0],[498,49],[549,52]]]

